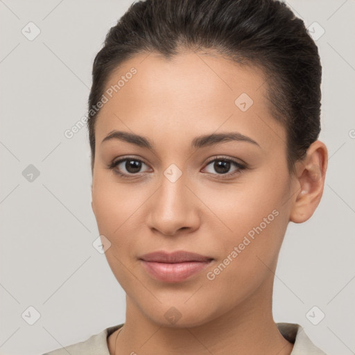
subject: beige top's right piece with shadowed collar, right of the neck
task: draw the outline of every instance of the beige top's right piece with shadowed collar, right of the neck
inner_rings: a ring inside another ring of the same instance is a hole
[[[276,323],[276,325],[282,336],[293,343],[293,350],[290,355],[327,355],[312,343],[300,324]]]

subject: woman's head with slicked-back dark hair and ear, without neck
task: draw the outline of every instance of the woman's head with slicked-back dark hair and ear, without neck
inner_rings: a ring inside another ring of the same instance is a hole
[[[107,33],[89,95],[92,207],[146,318],[169,324],[173,306],[186,327],[271,297],[288,223],[322,196],[321,74],[303,21],[279,1],[139,1]],[[184,282],[142,266],[177,250],[211,262]]]

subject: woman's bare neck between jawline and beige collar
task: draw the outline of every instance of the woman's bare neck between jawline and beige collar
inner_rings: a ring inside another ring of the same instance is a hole
[[[110,354],[289,355],[293,345],[272,318],[272,281],[264,282],[234,309],[197,327],[152,322],[127,297],[126,321],[119,337],[117,331],[110,337]]]

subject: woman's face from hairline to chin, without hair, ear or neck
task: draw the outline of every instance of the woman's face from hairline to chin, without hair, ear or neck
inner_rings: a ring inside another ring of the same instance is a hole
[[[150,53],[112,73],[103,94],[92,208],[130,309],[187,327],[265,298],[294,189],[263,73],[203,53]],[[202,259],[164,259],[181,251]]]

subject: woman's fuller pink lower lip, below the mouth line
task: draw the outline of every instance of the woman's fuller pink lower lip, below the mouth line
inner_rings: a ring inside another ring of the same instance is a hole
[[[186,261],[184,263],[158,263],[141,260],[146,272],[162,282],[180,282],[207,268],[211,261]]]

